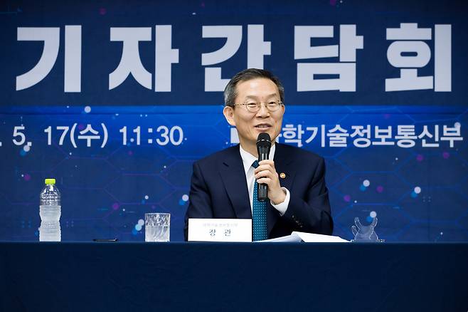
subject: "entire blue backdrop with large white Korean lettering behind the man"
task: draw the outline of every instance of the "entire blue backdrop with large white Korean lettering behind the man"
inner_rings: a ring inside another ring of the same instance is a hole
[[[0,240],[38,239],[46,177],[64,241],[143,241],[145,212],[182,240],[192,162],[238,142],[221,90],[257,67],[279,141],[326,158],[335,235],[467,241],[468,5],[250,2],[1,4]]]

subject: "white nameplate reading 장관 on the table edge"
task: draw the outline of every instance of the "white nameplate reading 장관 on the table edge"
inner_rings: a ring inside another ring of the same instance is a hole
[[[252,241],[252,219],[188,219],[188,241]]]

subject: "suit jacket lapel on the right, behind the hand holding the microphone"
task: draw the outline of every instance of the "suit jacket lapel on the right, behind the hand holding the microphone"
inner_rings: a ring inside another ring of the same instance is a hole
[[[289,194],[291,192],[292,182],[294,180],[294,176],[296,175],[296,170],[292,166],[292,155],[287,155],[287,151],[281,144],[276,144],[275,150],[275,169],[278,175],[284,173],[284,178],[280,176],[280,185],[281,187],[286,187],[289,190]],[[272,228],[275,226],[277,219],[280,217],[277,209],[275,209],[270,202],[267,204],[267,233],[268,237],[270,237],[270,232]]]

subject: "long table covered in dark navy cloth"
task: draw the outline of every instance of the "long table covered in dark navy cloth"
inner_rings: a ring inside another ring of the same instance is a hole
[[[0,311],[468,311],[466,243],[0,242]]]

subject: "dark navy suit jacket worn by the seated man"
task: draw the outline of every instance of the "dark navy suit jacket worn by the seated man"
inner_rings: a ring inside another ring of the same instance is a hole
[[[324,159],[298,147],[276,143],[275,168],[290,199],[283,216],[267,202],[268,238],[293,231],[331,234],[328,190]],[[247,180],[239,145],[216,152],[193,163],[190,197],[185,216],[184,235],[188,237],[188,218],[252,219]]]

